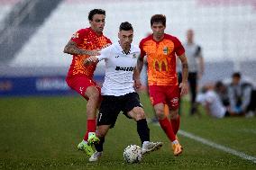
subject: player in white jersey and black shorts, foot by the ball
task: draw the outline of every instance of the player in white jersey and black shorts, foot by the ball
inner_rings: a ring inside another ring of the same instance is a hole
[[[100,56],[87,58],[87,63],[105,60],[105,81],[101,94],[96,137],[100,139],[95,144],[96,152],[89,161],[97,161],[103,153],[105,135],[114,127],[119,112],[137,122],[137,131],[142,141],[142,154],[161,148],[162,142],[150,141],[150,130],[145,113],[140,103],[139,94],[134,89],[136,78],[136,63],[140,56],[140,49],[132,44],[133,26],[129,22],[122,22],[118,33],[119,41],[103,49]],[[86,64],[87,64],[86,63]],[[134,74],[135,73],[135,74]]]

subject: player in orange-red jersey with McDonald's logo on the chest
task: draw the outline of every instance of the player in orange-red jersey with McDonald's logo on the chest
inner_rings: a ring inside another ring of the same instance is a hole
[[[172,143],[174,155],[178,156],[182,152],[176,136],[179,129],[178,104],[180,95],[187,94],[187,58],[178,38],[164,33],[165,28],[164,15],[155,14],[151,17],[153,33],[140,43],[141,58],[138,59],[137,68],[141,73],[143,58],[147,56],[151,103],[162,130]],[[182,83],[179,87],[176,72],[177,56],[182,63]],[[141,85],[139,76],[136,77],[135,83],[137,87]],[[169,106],[170,121],[164,113],[165,104]]]

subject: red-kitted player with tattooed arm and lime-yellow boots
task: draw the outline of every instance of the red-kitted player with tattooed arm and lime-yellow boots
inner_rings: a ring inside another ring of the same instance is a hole
[[[67,84],[87,99],[87,133],[83,141],[78,144],[78,149],[91,156],[94,153],[91,145],[98,140],[95,131],[96,108],[99,103],[100,87],[93,80],[96,64],[86,66],[84,61],[89,56],[99,55],[99,50],[111,44],[111,40],[103,35],[105,26],[104,10],[91,10],[88,14],[88,20],[90,27],[74,33],[64,52],[73,55],[66,79]]]

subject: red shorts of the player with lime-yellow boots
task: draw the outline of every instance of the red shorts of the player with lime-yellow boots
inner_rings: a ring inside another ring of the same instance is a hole
[[[78,92],[78,94],[82,95],[87,100],[88,98],[85,93],[87,91],[87,87],[89,86],[96,86],[100,94],[100,86],[96,85],[96,82],[87,76],[68,76],[66,78],[66,82],[71,89]]]

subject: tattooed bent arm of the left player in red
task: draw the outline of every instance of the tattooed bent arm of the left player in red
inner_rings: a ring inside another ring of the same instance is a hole
[[[88,55],[88,56],[99,55],[99,52],[97,50],[79,49],[77,46],[77,43],[72,40],[69,40],[63,52],[71,55]]]

